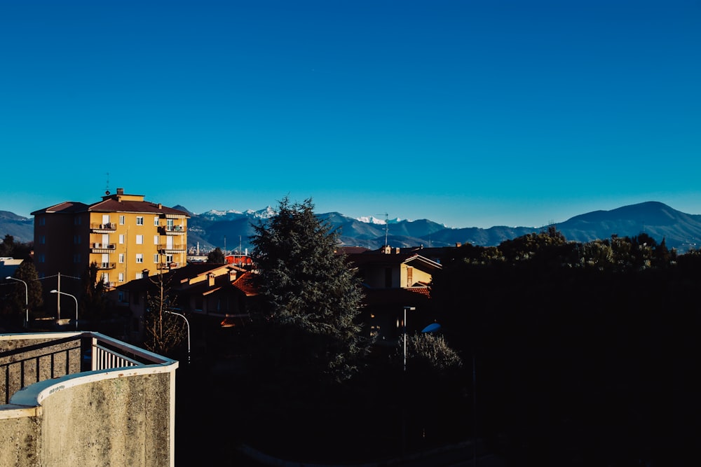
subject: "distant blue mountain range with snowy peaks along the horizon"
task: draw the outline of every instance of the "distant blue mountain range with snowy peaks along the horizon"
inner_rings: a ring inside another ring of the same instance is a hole
[[[188,246],[205,254],[219,247],[224,251],[250,251],[253,225],[265,222],[275,215],[275,210],[266,207],[259,211],[207,211],[194,214],[185,207],[188,221]],[[448,228],[440,223],[421,219],[406,221],[399,219],[350,218],[338,212],[317,214],[340,233],[343,246],[362,246],[378,249],[383,244],[393,247],[409,246],[455,246],[472,243],[481,246],[497,246],[504,240],[540,232],[545,227]],[[648,201],[631,204],[611,211],[592,211],[574,216],[562,223],[552,224],[568,240],[591,242],[608,239],[611,235],[634,237],[642,232],[658,243],[665,239],[668,248],[679,253],[696,249],[701,244],[701,215],[686,214],[661,202]],[[0,237],[12,235],[15,241],[31,242],[34,238],[34,220],[18,216],[9,211],[0,211]]]

